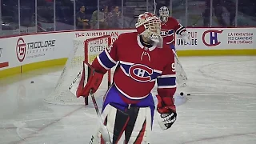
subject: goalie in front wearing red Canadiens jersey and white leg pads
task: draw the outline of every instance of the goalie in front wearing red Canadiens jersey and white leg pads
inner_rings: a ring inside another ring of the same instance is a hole
[[[151,13],[139,15],[137,32],[120,34],[109,49],[92,63],[94,73],[77,96],[87,97],[98,90],[103,74],[117,65],[113,84],[106,92],[102,118],[114,144],[123,132],[124,143],[150,143],[154,118],[151,90],[158,83],[158,123],[169,129],[176,120],[174,54],[162,44],[160,19]],[[131,57],[132,55],[132,57]],[[82,84],[83,85],[83,84]]]

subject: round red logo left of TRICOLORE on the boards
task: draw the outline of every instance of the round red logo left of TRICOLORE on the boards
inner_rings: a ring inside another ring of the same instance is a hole
[[[18,38],[16,45],[16,55],[19,62],[23,62],[26,55],[26,43],[23,38]]]

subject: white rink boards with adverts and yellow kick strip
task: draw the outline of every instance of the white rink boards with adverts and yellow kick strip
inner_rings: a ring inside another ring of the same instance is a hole
[[[179,56],[256,55],[256,28],[187,28],[191,42],[176,36]],[[58,31],[0,38],[0,78],[47,66],[64,65],[74,38],[94,38],[135,30]],[[173,34],[171,31],[162,34]],[[127,42],[129,42],[127,40]]]

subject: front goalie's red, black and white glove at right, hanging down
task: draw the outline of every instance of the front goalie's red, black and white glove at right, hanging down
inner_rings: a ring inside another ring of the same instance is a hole
[[[176,121],[177,113],[176,106],[174,105],[174,98],[171,97],[161,97],[157,95],[158,98],[158,114],[160,118],[158,119],[158,124],[162,130],[169,129]]]

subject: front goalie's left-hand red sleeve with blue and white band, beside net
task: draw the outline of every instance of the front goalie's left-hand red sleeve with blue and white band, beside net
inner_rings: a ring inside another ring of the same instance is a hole
[[[94,62],[92,63],[92,67],[95,70],[102,74],[106,74],[107,70],[110,70],[112,67],[116,65],[118,62],[118,39],[110,45],[107,49],[102,51],[101,54],[98,54],[96,58],[94,58]]]

